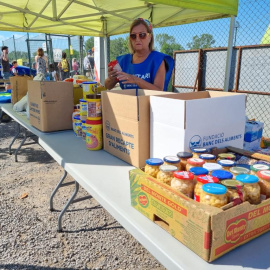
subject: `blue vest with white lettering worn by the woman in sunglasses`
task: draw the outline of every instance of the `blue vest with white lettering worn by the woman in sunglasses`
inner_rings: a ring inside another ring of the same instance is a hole
[[[122,68],[123,72],[128,74],[132,74],[141,78],[149,83],[154,83],[156,73],[164,60],[166,65],[166,75],[165,75],[165,82],[164,82],[164,90],[167,90],[168,83],[172,74],[174,61],[172,57],[169,55],[152,51],[148,57],[139,64],[132,63],[132,54],[125,54],[118,56],[117,61]],[[120,87],[122,89],[135,89],[138,88],[136,84],[123,84],[120,82]]]

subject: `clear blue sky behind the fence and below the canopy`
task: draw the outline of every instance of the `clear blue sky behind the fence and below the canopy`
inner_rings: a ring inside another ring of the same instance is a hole
[[[269,0],[239,0],[238,16],[236,18],[239,27],[235,45],[260,44],[261,39],[270,23],[270,1]],[[163,27],[154,29],[155,34],[167,33],[174,36],[176,42],[187,49],[187,43],[192,41],[195,35],[209,33],[215,39],[215,47],[226,47],[228,42],[230,19],[213,20],[201,23],[193,23],[180,26]],[[25,32],[0,31],[0,44],[3,40],[24,36]],[[39,35],[29,33],[30,37]],[[125,35],[119,35],[125,37]],[[112,39],[119,36],[113,36]],[[86,37],[87,39],[87,37]]]

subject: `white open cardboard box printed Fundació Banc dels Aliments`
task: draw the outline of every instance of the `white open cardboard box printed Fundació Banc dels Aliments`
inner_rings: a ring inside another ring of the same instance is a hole
[[[150,156],[192,148],[243,148],[246,95],[202,91],[150,97]]]

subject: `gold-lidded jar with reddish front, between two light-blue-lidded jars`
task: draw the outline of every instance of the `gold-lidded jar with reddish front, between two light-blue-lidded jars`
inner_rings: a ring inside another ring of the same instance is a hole
[[[246,200],[246,192],[244,184],[238,180],[225,179],[220,182],[227,188],[227,196],[229,202],[240,204]]]

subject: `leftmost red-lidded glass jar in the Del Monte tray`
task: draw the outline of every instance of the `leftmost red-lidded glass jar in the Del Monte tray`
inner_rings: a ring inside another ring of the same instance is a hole
[[[194,175],[193,173],[186,171],[178,171],[173,173],[173,179],[171,181],[171,187],[186,195],[189,198],[193,198],[194,190]]]

